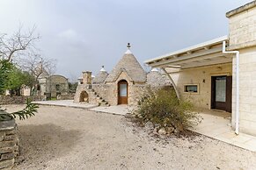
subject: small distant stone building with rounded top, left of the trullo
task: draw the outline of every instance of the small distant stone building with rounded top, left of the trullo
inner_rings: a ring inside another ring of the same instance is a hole
[[[40,76],[37,90],[39,96],[45,96],[47,93],[50,93],[51,97],[68,95],[69,81],[59,74]]]

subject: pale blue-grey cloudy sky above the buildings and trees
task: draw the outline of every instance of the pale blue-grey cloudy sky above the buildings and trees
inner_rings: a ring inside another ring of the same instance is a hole
[[[227,11],[249,0],[0,0],[0,32],[36,25],[41,53],[56,74],[108,72],[126,45],[144,60],[228,34]]]

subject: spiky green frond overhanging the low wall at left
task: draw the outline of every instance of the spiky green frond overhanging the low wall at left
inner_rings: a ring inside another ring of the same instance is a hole
[[[37,112],[38,108],[39,108],[39,106],[37,104],[31,103],[31,100],[27,99],[26,100],[26,108],[24,110],[19,110],[19,111],[13,112],[13,113],[4,112],[4,113],[0,114],[0,122],[6,121],[6,120],[11,120],[16,117],[18,117],[19,120],[25,120],[28,117],[33,117],[34,113]],[[4,111],[4,110],[1,110],[1,108],[0,108],[0,111]]]

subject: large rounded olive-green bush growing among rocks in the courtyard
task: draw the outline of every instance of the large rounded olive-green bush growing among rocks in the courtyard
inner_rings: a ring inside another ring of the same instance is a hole
[[[192,103],[179,100],[172,89],[149,89],[134,110],[140,124],[152,123],[157,130],[185,131],[200,122]]]

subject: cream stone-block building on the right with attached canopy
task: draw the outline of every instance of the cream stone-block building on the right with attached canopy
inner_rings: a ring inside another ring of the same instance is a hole
[[[229,36],[145,61],[161,67],[177,96],[230,112],[239,131],[256,135],[256,1],[226,13]]]

